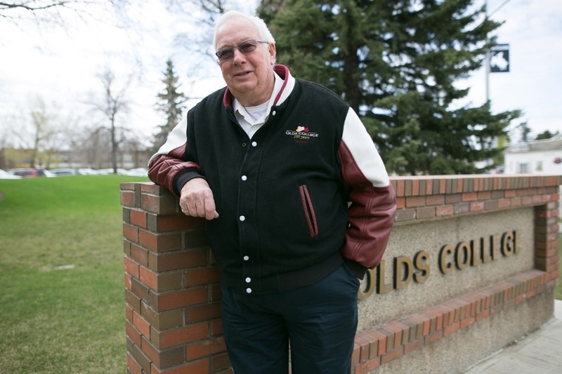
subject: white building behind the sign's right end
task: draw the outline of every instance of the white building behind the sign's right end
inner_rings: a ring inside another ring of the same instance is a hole
[[[562,175],[562,134],[510,145],[504,156],[506,174]]]

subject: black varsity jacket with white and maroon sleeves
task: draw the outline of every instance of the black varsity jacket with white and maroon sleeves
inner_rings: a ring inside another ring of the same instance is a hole
[[[231,288],[306,286],[344,260],[362,278],[379,264],[396,213],[384,163],[346,102],[274,69],[283,86],[251,139],[222,88],[171,131],[148,175],[176,196],[192,178],[207,180],[219,214],[207,234]]]

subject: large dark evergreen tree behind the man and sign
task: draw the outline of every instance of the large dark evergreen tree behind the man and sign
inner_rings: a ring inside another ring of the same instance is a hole
[[[362,117],[389,172],[478,173],[518,110],[455,107],[455,82],[482,66],[499,23],[474,0],[264,0],[277,62]],[[493,165],[488,166],[492,168]]]

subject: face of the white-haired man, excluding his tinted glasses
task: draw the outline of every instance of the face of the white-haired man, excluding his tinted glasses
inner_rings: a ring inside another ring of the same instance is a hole
[[[247,40],[261,40],[254,24],[244,18],[230,20],[217,30],[216,49],[232,48]],[[233,58],[218,62],[230,92],[244,106],[269,100],[275,82],[274,64],[275,44],[265,43],[258,43],[256,50],[247,54],[236,48]]]

